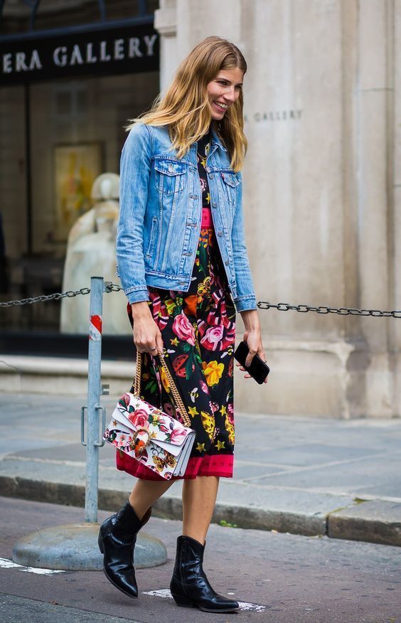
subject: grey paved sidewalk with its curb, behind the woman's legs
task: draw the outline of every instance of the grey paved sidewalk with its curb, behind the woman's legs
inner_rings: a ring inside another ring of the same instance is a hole
[[[0,395],[3,496],[83,506],[86,397]],[[114,398],[103,398],[107,422]],[[220,479],[213,521],[306,536],[401,545],[401,420],[236,415],[235,477]],[[134,479],[100,449],[99,508],[124,504]],[[181,518],[181,482],[155,513]]]

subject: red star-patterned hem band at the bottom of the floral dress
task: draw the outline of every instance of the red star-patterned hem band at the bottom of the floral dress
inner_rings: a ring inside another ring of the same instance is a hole
[[[165,480],[159,474],[152,472],[149,467],[145,467],[124,452],[116,452],[117,469],[127,472],[131,476],[143,480]],[[183,476],[173,476],[171,480],[194,479],[196,476],[221,476],[232,478],[234,467],[233,454],[204,454],[203,457],[191,457]]]

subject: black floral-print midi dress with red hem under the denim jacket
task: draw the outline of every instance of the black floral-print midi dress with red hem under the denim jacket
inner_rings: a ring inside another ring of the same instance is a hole
[[[165,361],[196,431],[184,479],[232,477],[234,452],[235,307],[210,215],[205,162],[209,135],[198,142],[203,218],[188,292],[148,287],[149,307],[164,342]],[[127,306],[132,323],[131,306]],[[176,417],[159,356],[142,355],[141,397]],[[179,419],[179,416],[178,416]],[[117,450],[117,468],[137,478],[162,480]]]

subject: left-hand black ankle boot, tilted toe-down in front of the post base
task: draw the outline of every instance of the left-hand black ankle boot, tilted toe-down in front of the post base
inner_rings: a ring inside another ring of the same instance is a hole
[[[134,570],[134,547],[137,533],[151,516],[151,508],[142,520],[127,501],[121,510],[100,526],[99,549],[103,554],[103,570],[110,582],[128,597],[138,597]]]

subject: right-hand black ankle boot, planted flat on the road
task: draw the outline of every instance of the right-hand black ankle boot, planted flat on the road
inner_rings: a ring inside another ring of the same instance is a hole
[[[198,606],[204,612],[234,612],[238,602],[218,595],[203,571],[201,545],[190,536],[178,536],[176,564],[170,582],[171,595],[178,606]]]

